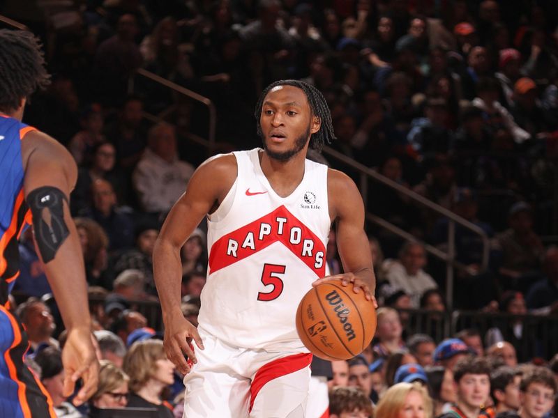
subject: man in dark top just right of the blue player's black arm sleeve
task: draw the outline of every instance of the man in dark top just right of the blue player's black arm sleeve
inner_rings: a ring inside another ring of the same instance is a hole
[[[133,247],[134,222],[130,213],[116,206],[116,193],[112,184],[98,178],[91,185],[93,206],[80,213],[97,222],[109,238],[111,252]]]

